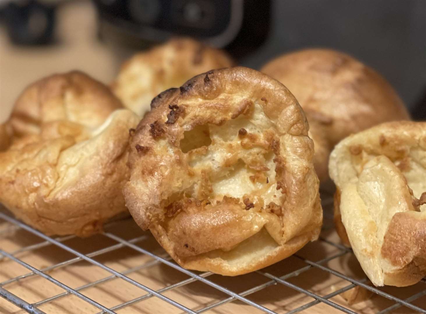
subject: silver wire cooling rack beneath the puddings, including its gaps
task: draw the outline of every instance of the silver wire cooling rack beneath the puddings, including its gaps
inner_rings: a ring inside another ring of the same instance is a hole
[[[323,202],[318,241],[238,277],[180,267],[131,218],[80,239],[48,237],[3,210],[0,295],[10,303],[0,299],[0,312],[426,313],[425,279],[405,288],[368,284],[351,249],[339,244],[331,202]],[[354,289],[372,297],[350,304]]]

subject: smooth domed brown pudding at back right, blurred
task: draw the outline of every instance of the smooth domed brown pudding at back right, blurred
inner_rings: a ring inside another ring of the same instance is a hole
[[[328,178],[328,155],[340,140],[378,123],[409,120],[400,97],[380,74],[338,51],[284,54],[261,71],[287,86],[305,111],[321,182]]]

